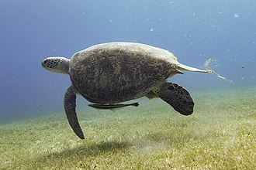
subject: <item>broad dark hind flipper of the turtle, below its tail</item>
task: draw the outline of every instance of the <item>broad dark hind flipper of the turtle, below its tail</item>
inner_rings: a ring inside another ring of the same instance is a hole
[[[162,100],[171,105],[176,111],[183,115],[193,113],[194,102],[189,92],[176,83],[163,83],[161,87],[154,90]]]

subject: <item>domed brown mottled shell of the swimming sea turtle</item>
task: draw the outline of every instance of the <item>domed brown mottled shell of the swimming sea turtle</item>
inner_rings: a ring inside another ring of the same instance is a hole
[[[89,47],[71,58],[73,87],[95,104],[116,104],[144,97],[178,73],[176,57],[167,50],[133,42]]]

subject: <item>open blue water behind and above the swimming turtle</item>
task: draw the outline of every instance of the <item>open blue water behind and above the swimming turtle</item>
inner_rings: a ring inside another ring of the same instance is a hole
[[[47,72],[41,60],[101,42],[158,46],[199,68],[214,58],[216,72],[233,81],[202,73],[171,79],[192,93],[255,86],[255,8],[254,0],[1,1],[0,123],[63,111],[69,77]]]

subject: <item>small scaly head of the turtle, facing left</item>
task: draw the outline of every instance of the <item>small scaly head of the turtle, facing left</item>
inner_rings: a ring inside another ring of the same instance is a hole
[[[42,66],[53,73],[69,74],[69,61],[70,59],[61,56],[48,57],[43,59]]]

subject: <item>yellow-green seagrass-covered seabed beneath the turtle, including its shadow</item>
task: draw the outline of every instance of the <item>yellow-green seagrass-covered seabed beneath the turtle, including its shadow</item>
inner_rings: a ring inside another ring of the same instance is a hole
[[[78,108],[0,124],[0,169],[254,169],[256,87],[192,93],[182,116],[162,100],[116,111]]]

